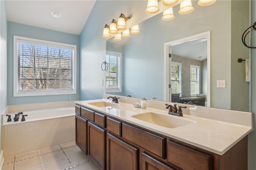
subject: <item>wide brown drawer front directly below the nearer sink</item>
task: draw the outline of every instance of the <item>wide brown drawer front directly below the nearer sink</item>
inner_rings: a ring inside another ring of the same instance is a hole
[[[156,136],[123,123],[122,137],[152,152],[153,154],[160,156],[161,158],[165,158],[165,139],[160,136]]]

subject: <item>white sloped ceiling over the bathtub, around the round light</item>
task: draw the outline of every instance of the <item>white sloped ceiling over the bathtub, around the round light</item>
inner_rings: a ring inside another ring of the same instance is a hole
[[[80,35],[96,0],[7,0],[7,20]],[[61,13],[60,18],[52,16]]]

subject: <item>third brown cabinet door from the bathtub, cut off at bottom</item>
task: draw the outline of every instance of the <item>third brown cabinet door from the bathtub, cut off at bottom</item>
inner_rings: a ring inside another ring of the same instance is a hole
[[[137,170],[138,149],[107,133],[107,170]]]

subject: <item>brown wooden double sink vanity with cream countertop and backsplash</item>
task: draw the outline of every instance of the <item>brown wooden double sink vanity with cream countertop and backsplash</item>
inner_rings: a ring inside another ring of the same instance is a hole
[[[166,102],[120,96],[76,102],[76,144],[102,170],[247,169],[252,114],[194,105],[169,115]]]

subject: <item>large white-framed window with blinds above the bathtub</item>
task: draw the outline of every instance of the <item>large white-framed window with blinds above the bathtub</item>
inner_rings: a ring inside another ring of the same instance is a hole
[[[76,94],[76,45],[14,36],[14,97]]]

